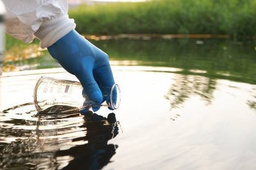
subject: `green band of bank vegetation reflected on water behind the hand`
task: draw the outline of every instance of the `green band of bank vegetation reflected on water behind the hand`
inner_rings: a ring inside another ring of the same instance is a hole
[[[92,43],[118,65],[174,67],[181,70],[173,72],[182,75],[203,75],[211,79],[256,84],[255,44],[245,46],[220,39],[111,39]],[[31,69],[60,66],[47,51],[43,57],[6,64],[17,67],[31,65]]]

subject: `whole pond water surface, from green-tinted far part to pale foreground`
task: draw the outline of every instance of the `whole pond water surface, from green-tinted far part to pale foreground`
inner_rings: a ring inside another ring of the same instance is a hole
[[[36,80],[75,78],[61,68],[4,73],[1,111],[16,107],[0,114],[1,168],[255,169],[253,44],[94,43],[110,54],[122,90],[115,116],[39,115],[30,103]],[[39,60],[51,61],[30,64]]]

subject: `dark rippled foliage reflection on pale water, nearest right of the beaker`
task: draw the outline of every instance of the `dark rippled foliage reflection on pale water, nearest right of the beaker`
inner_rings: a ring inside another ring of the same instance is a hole
[[[207,77],[177,74],[165,98],[170,100],[171,108],[183,106],[186,99],[192,96],[200,96],[209,105],[216,85],[216,81]]]

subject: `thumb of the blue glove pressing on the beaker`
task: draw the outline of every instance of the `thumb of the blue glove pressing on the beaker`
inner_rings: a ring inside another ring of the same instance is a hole
[[[77,78],[83,86],[83,93],[94,102],[101,104],[102,93],[92,73],[94,59],[93,57],[84,57],[82,63],[86,63],[86,65],[82,65],[82,70]]]

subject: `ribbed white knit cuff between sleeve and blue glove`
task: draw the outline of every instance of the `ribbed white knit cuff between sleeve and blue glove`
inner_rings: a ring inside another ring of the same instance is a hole
[[[69,31],[75,29],[76,24],[68,15],[42,23],[40,28],[35,32],[35,36],[41,40],[41,48],[50,47],[60,38],[65,36]]]

